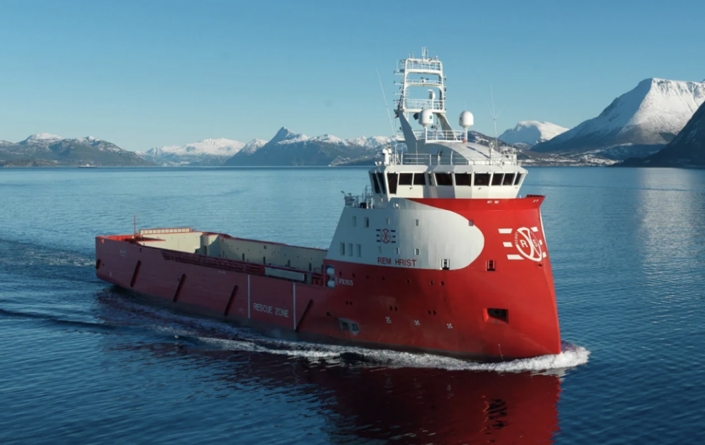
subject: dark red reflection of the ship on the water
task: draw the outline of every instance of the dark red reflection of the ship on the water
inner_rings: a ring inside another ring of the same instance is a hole
[[[552,443],[558,432],[560,379],[553,374],[389,368],[345,356],[311,360],[184,343],[117,348],[147,352],[147,361],[156,356],[189,370],[197,366],[219,394],[264,389],[273,398],[287,394],[288,403],[306,401],[307,409],[326,417],[334,443],[354,437],[354,443],[536,444]]]

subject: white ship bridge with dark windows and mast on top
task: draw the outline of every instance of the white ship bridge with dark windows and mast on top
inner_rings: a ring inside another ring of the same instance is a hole
[[[384,161],[369,171],[369,186],[360,196],[347,195],[353,207],[379,207],[395,198],[479,198],[517,197],[527,171],[517,162],[513,150],[468,142],[472,126],[470,111],[462,111],[454,130],[446,117],[446,75],[438,57],[428,48],[421,58],[413,54],[397,62],[401,76],[395,116],[401,134],[383,150]],[[415,97],[425,90],[428,97]],[[421,128],[413,128],[416,121]]]

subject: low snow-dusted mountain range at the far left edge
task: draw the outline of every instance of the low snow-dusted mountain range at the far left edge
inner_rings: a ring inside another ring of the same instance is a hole
[[[71,166],[147,166],[152,165],[137,154],[117,145],[87,136],[62,138],[48,133],[37,133],[20,142],[0,143],[2,165],[56,165]]]

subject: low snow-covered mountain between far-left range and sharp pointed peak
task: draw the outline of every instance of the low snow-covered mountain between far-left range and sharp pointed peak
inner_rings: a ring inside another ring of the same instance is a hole
[[[219,138],[204,139],[185,145],[167,145],[150,148],[139,153],[145,159],[163,166],[180,165],[222,165],[228,158],[243,149],[239,140]]]

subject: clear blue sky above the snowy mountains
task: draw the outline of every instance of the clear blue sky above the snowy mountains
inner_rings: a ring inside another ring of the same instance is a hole
[[[396,59],[430,47],[451,122],[572,127],[651,77],[705,78],[705,1],[0,0],[0,140],[127,150],[388,135]]]

